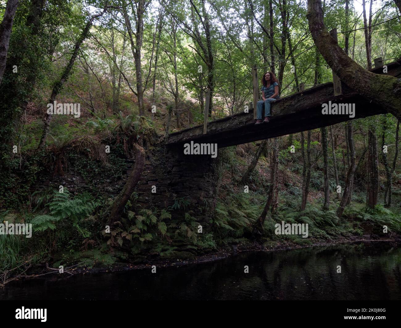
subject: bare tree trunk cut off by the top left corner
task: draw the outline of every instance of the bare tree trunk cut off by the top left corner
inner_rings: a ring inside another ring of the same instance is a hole
[[[8,0],[4,12],[3,21],[0,24],[0,85],[3,80],[4,70],[6,69],[6,60],[8,46],[10,44],[10,35],[12,23],[14,22],[15,12],[18,7],[18,0]]]

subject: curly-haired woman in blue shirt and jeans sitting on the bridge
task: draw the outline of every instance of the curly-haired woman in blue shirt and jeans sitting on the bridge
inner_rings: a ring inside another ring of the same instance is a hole
[[[270,104],[275,102],[276,99],[279,99],[278,95],[278,83],[277,79],[272,72],[267,72],[263,75],[262,78],[263,87],[262,91],[262,99],[257,102],[257,120],[256,124],[262,123],[262,112],[263,112],[263,104],[265,105],[265,119],[263,123],[269,123],[270,119]]]

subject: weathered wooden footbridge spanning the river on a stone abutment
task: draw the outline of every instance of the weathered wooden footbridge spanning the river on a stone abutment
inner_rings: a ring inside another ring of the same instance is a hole
[[[375,68],[370,71],[386,74],[383,73],[383,60],[380,59],[375,59]],[[401,76],[401,58],[386,66],[387,74]],[[379,110],[374,102],[352,92],[335,74],[333,80],[334,83],[319,85],[275,101],[271,106],[272,117],[269,123],[254,125],[255,109],[249,109],[249,113],[234,114],[212,122],[205,120],[204,125],[170,133],[167,145],[181,145],[194,141],[194,143],[217,143],[217,147],[222,148],[386,113]],[[256,92],[259,93],[258,87]],[[255,99],[255,83],[253,95],[255,103],[257,99]],[[329,101],[355,104],[355,117],[339,114],[323,115],[322,104]]]

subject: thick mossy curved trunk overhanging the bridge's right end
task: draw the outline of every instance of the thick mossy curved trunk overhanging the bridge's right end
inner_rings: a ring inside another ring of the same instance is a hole
[[[327,64],[348,87],[401,119],[401,79],[375,74],[352,60],[323,24],[320,0],[308,0],[309,30]],[[362,109],[363,110],[363,109]]]

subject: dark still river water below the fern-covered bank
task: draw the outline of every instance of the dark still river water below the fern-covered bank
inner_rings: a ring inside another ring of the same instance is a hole
[[[371,242],[246,252],[217,262],[160,267],[155,274],[149,268],[17,281],[0,289],[0,299],[401,300],[401,248]]]

